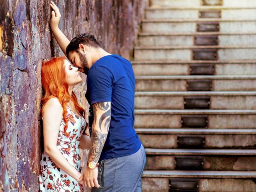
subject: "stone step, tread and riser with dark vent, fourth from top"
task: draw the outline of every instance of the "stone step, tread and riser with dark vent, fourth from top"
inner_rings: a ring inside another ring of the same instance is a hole
[[[134,59],[140,60],[252,60],[256,46],[139,46]]]

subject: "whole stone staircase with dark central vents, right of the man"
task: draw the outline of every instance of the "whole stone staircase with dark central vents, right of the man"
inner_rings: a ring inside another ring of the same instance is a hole
[[[143,192],[256,191],[256,0],[150,0],[135,48]]]

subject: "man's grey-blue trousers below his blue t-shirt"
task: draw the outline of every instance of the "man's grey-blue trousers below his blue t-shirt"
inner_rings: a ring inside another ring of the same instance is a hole
[[[144,147],[131,155],[102,160],[98,166],[99,189],[92,192],[141,192],[141,176],[146,164]]]

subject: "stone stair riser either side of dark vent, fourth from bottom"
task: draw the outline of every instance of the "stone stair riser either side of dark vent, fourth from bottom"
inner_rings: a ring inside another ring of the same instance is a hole
[[[208,115],[208,128],[255,128],[256,115]],[[181,115],[136,114],[135,128],[181,128]]]

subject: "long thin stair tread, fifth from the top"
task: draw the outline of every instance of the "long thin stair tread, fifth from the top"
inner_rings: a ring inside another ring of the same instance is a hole
[[[132,61],[132,64],[242,64],[256,63],[256,60],[143,60]]]

